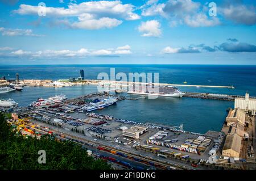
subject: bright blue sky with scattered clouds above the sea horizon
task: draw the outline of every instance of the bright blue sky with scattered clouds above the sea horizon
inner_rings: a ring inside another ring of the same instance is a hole
[[[0,0],[0,65],[256,65],[256,2]]]

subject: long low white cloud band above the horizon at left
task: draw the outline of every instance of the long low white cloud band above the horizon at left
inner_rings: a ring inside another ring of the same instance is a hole
[[[131,54],[131,47],[125,45],[123,47],[117,47],[114,49],[100,49],[100,50],[88,50],[81,48],[79,50],[40,50],[36,52],[25,51],[18,49],[11,52],[4,52],[0,54],[0,57],[26,57],[26,58],[82,58],[86,56],[116,56],[119,54]],[[0,48],[0,50],[12,50],[9,47]]]

